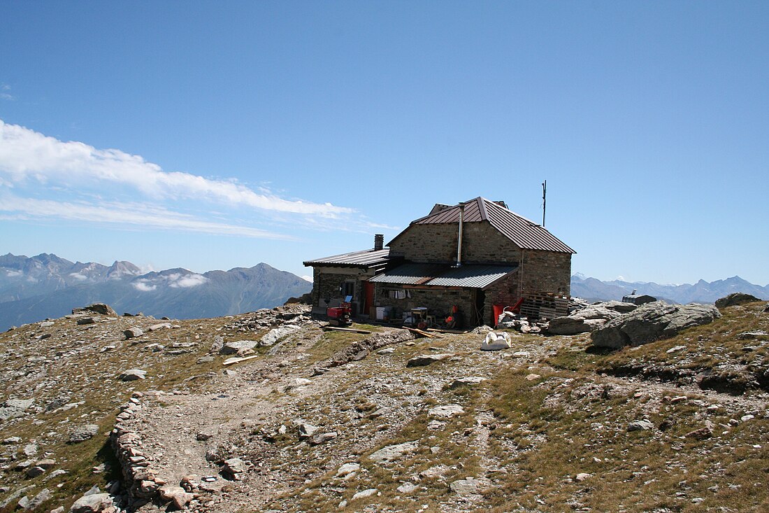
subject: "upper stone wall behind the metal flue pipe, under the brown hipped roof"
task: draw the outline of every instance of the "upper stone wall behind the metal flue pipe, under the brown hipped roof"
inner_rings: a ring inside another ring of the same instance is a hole
[[[390,255],[412,262],[454,263],[457,260],[458,223],[412,224],[391,241]],[[464,223],[463,263],[517,263],[521,249],[487,222]]]

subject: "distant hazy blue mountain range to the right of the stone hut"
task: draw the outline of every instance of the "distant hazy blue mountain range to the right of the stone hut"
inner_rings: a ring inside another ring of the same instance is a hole
[[[715,280],[710,283],[699,280],[693,285],[689,283],[682,285],[660,285],[654,282],[631,283],[622,280],[601,281],[581,274],[574,274],[571,277],[571,295],[586,300],[621,300],[624,295],[632,293],[633,290],[668,303],[714,303],[718,298],[733,292],[744,292],[759,299],[769,300],[769,285],[766,287],[754,285],[754,283],[738,276],[726,280]]]

